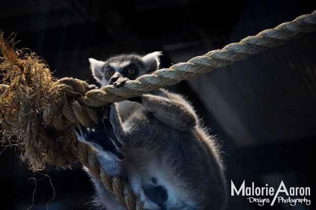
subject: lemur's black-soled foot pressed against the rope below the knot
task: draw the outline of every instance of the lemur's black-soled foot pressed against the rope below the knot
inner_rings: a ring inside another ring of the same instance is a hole
[[[117,140],[113,126],[109,119],[105,119],[105,113],[107,110],[97,108],[98,125],[93,128],[86,128],[80,124],[79,127],[75,127],[74,131],[78,137],[78,140],[83,143],[93,146],[101,153],[112,153],[118,160],[123,160],[124,155],[121,151],[121,143]]]

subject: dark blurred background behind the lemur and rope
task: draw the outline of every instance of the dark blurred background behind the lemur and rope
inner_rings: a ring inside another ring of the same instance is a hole
[[[0,29],[16,33],[16,47],[36,52],[54,76],[93,84],[88,58],[162,50],[168,68],[312,13],[312,2],[0,1]],[[275,189],[283,180],[314,193],[315,33],[168,88],[187,95],[220,140],[229,190],[231,180]],[[13,148],[1,151],[0,209],[91,208],[94,190],[80,163],[33,173]],[[312,209],[315,202],[259,206],[246,198],[230,196],[228,209]]]

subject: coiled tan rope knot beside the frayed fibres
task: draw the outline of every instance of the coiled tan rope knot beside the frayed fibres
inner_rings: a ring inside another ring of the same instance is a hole
[[[85,127],[93,127],[98,123],[96,112],[87,107],[84,94],[88,91],[88,83],[74,78],[57,80],[50,90],[48,106],[43,111],[43,123],[52,125],[58,130],[81,123]]]

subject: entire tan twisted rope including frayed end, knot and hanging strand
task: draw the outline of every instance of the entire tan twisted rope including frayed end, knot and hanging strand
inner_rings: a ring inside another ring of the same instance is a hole
[[[14,39],[7,41],[1,33],[2,145],[15,145],[21,159],[35,171],[43,169],[46,164],[67,167],[81,162],[128,209],[143,209],[139,196],[133,194],[128,183],[109,176],[97,161],[95,151],[76,140],[73,128],[79,123],[93,127],[98,122],[96,107],[191,79],[315,30],[316,11],[192,58],[186,63],[127,81],[123,87],[108,85],[90,91],[84,81],[54,78],[46,63],[25,49],[14,50]]]

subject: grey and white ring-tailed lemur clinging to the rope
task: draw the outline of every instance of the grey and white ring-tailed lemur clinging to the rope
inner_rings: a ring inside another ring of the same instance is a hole
[[[102,86],[119,88],[129,79],[157,70],[160,55],[121,55],[89,62]],[[78,139],[96,149],[110,175],[129,183],[145,209],[224,208],[227,189],[215,139],[182,96],[159,89],[111,103],[108,119],[103,119],[100,109],[97,115],[95,128],[75,129]],[[127,209],[90,176],[97,192],[94,202],[100,209]]]

